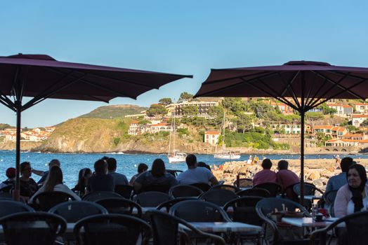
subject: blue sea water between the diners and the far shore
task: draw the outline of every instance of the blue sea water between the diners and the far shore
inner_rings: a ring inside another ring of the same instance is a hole
[[[149,167],[152,165],[153,160],[156,158],[162,158],[166,164],[166,169],[178,169],[185,170],[187,166],[185,162],[170,164],[167,161],[165,154],[81,154],[81,153],[21,153],[21,162],[31,162],[34,169],[46,171],[48,170],[48,162],[51,159],[58,159],[61,162],[61,168],[63,169],[64,181],[70,188],[74,187],[78,180],[79,169],[88,167],[93,171],[93,163],[103,156],[115,158],[117,160],[117,172],[125,174],[128,179],[136,174],[137,166],[140,162],[147,164]],[[255,156],[255,155],[253,155]],[[270,158],[271,160],[280,159],[298,159],[299,155],[258,155],[260,160],[263,158]],[[340,155],[340,158],[346,155]],[[349,155],[352,158],[368,158],[368,155]],[[239,161],[245,161],[249,158],[249,155],[242,155]],[[306,159],[315,158],[333,158],[333,155],[305,155]],[[228,160],[214,159],[213,155],[197,155],[197,160],[206,162],[209,165],[221,165]],[[8,167],[15,167],[15,151],[0,151],[0,181],[6,179],[5,172]],[[32,174],[32,178],[36,181],[39,180],[39,176]]]

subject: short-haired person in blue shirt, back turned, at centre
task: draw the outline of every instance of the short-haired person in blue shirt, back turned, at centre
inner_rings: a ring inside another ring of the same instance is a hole
[[[187,155],[185,158],[188,169],[178,175],[180,185],[190,185],[192,183],[212,183],[217,185],[218,181],[212,172],[205,167],[197,167],[197,157],[195,155]]]

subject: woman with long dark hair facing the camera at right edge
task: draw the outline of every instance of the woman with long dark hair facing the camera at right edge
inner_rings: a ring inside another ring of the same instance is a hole
[[[348,183],[338,190],[334,202],[335,216],[338,218],[365,211],[368,207],[367,172],[364,166],[350,166],[346,179]]]

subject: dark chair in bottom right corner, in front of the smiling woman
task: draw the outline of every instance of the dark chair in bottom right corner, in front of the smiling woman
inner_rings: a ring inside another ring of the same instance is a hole
[[[337,221],[331,223],[326,228],[315,230],[310,235],[310,244],[317,244],[317,241],[318,244],[326,244],[328,234],[327,232],[329,230],[333,230],[341,223],[345,223],[346,225],[346,234],[339,238],[343,239],[343,241],[340,241],[341,244],[367,244],[368,211],[349,214],[347,216],[339,218]]]

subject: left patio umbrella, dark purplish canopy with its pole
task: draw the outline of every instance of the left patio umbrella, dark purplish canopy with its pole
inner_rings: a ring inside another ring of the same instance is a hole
[[[47,98],[109,102],[192,76],[59,62],[48,55],[0,57],[0,103],[17,113],[15,199],[19,199],[21,112]],[[22,104],[23,97],[31,97]]]

